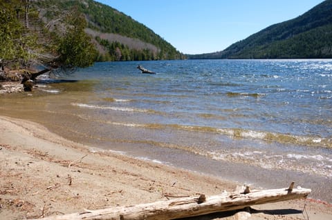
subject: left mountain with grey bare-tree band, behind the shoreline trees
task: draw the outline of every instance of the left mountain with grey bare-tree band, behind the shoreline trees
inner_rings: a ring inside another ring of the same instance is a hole
[[[93,0],[39,0],[33,8],[50,31],[62,32],[66,14],[73,8],[82,12],[89,34],[100,52],[100,61],[184,58],[170,43],[126,14]]]

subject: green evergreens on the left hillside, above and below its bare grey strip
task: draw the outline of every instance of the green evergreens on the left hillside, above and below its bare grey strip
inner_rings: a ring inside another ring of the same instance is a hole
[[[68,8],[76,7],[77,10],[82,12],[88,20],[88,27],[104,33],[120,34],[124,37],[131,39],[139,39],[145,43],[151,43],[158,48],[158,54],[154,52],[153,59],[183,59],[184,56],[181,52],[178,52],[170,43],[165,41],[163,38],[155,34],[151,29],[139,23],[131,17],[119,12],[118,10],[109,6],[103,5],[102,3],[95,2],[93,0],[44,0],[37,1],[36,6],[46,10],[45,17],[49,20],[54,20],[61,17],[62,13],[68,10]],[[115,42],[110,42],[115,43]],[[129,48],[130,59],[127,59],[127,49],[118,47],[121,50],[123,60],[133,60],[133,54],[136,59],[152,59],[151,54],[148,55],[146,50],[138,50],[136,48]],[[100,55],[100,60],[118,60],[114,57],[111,52],[110,54]],[[119,53],[119,51],[118,51]],[[125,56],[123,56],[125,54]],[[120,60],[122,60],[120,59]]]

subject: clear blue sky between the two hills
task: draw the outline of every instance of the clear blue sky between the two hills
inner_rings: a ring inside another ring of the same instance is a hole
[[[151,28],[185,54],[223,50],[322,0],[98,0]]]

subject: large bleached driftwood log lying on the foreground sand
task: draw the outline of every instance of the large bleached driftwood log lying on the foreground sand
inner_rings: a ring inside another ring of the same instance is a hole
[[[46,217],[44,220],[100,220],[100,219],[179,219],[194,217],[213,212],[239,210],[252,205],[273,203],[291,199],[304,199],[311,192],[310,189],[293,189],[294,183],[289,188],[277,190],[261,190],[250,192],[248,188],[243,193],[227,193],[205,197],[186,197],[136,206],[123,206],[103,210],[85,210],[62,216]],[[247,193],[246,193],[247,192]]]

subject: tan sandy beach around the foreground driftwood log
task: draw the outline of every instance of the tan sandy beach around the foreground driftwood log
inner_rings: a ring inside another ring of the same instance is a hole
[[[1,220],[163,201],[172,195],[220,194],[238,184],[90,148],[37,123],[0,117]],[[191,219],[332,219],[331,204],[313,199],[251,208],[251,214],[226,212]]]

